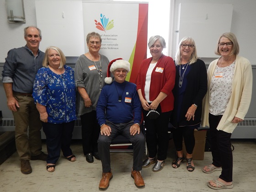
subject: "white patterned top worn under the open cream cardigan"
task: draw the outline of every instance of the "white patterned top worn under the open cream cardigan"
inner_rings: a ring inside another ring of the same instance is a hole
[[[226,67],[216,66],[210,86],[210,108],[212,115],[223,115],[232,93],[235,61]]]

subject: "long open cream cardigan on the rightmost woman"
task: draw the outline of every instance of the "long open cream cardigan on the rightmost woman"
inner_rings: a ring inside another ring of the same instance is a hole
[[[202,126],[209,126],[209,95],[214,70],[219,59],[212,61],[208,67],[208,91],[203,99]],[[244,57],[236,56],[232,82],[232,93],[227,108],[217,126],[217,130],[232,133],[237,123],[231,121],[236,116],[244,119],[249,109],[252,92],[251,63]]]

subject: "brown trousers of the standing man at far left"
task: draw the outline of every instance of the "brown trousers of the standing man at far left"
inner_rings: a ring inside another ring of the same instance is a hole
[[[16,149],[20,160],[29,159],[42,153],[41,128],[39,112],[32,96],[13,94],[19,103],[17,111],[12,111],[15,121]]]

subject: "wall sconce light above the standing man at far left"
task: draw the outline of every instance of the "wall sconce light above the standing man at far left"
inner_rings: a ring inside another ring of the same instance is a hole
[[[5,0],[9,23],[26,23],[23,0]]]

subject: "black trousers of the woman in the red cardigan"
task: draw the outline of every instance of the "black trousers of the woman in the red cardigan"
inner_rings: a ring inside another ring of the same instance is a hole
[[[158,107],[160,107],[160,105]],[[160,116],[157,119],[149,119],[147,117],[149,111],[145,111],[143,109],[142,112],[146,127],[146,142],[149,151],[149,158],[154,158],[157,154],[157,159],[159,161],[163,161],[167,157],[169,145],[168,124],[171,111],[164,113],[160,112]]]

